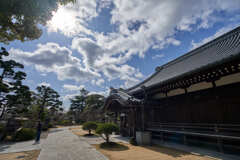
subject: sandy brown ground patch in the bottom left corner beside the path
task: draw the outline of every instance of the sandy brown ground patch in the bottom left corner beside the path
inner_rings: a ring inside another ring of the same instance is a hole
[[[40,150],[0,154],[0,160],[37,160]]]

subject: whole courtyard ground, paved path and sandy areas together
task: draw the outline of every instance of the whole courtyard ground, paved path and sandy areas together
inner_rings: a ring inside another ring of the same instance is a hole
[[[111,141],[119,144],[118,148],[100,148],[103,139],[97,135],[88,137],[81,126],[51,129],[48,137],[40,144],[26,141],[0,145],[1,160],[231,160],[239,157],[221,153],[196,150],[188,152],[174,146],[152,145],[133,146],[128,138],[111,136]]]

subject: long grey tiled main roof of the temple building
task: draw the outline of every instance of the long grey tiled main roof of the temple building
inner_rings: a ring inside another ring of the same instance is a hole
[[[187,73],[211,64],[240,55],[240,27],[198,47],[185,55],[156,69],[156,72],[136,86],[127,89],[128,93],[134,93],[141,89],[167,82]]]

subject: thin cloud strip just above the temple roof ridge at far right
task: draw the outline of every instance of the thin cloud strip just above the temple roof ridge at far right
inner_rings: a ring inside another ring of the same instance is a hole
[[[207,42],[210,42],[211,40],[223,35],[224,33],[227,33],[228,31],[232,30],[233,28],[235,28],[237,25],[229,25],[229,26],[226,26],[226,27],[223,27],[221,29],[219,29],[218,31],[216,31],[216,33],[212,36],[209,36],[207,38],[204,38],[203,40],[201,40],[200,42],[195,42],[195,41],[192,41],[191,42],[191,49],[195,49]]]

